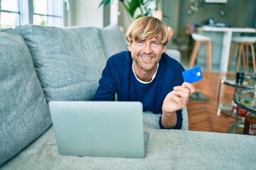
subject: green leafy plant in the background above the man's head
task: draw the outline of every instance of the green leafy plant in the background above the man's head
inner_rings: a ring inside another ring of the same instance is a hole
[[[112,0],[102,0],[100,6],[107,6]],[[129,16],[133,19],[139,18],[141,16],[150,16],[151,8],[149,4],[156,2],[157,0],[118,0],[127,11]]]

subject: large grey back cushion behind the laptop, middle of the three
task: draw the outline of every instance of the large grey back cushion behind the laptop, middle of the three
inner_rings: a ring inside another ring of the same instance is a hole
[[[97,28],[16,27],[28,45],[47,101],[90,100],[106,57]]]

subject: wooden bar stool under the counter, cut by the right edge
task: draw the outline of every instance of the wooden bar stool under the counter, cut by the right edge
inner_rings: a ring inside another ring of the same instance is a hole
[[[255,48],[254,48],[255,42],[256,42],[256,37],[241,36],[241,37],[233,38],[232,42],[231,42],[231,47],[230,47],[230,60],[231,61],[229,62],[228,67],[230,68],[230,64],[233,62],[234,57],[235,57],[235,52],[236,52],[237,48],[239,47],[236,71],[239,71],[239,69],[240,69],[241,56],[242,56],[243,67],[244,67],[244,69],[247,70],[249,68],[249,47],[250,47],[251,52],[252,52],[253,70],[255,71],[256,70]],[[245,52],[245,49],[246,49],[246,52]]]

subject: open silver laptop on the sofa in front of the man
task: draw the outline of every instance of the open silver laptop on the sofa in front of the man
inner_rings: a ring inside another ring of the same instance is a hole
[[[50,101],[60,155],[144,158],[148,132],[142,103]]]

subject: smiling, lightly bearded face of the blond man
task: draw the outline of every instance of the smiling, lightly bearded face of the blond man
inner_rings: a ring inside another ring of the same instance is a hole
[[[161,60],[163,45],[156,38],[129,42],[129,51],[139,69],[149,72]]]

